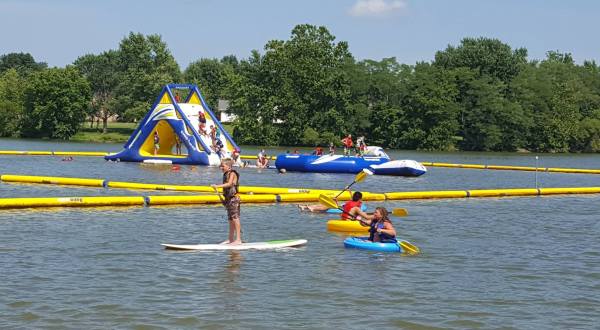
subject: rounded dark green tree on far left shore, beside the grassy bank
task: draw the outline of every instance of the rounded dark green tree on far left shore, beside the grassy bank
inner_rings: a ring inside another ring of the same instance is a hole
[[[85,120],[88,81],[74,67],[34,73],[25,89],[22,136],[68,139]]]

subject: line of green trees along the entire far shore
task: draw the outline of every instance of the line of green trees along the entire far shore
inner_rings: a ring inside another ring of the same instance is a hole
[[[140,119],[167,83],[198,84],[230,101],[240,144],[367,143],[416,150],[600,151],[600,68],[549,51],[465,38],[414,65],[357,61],[325,27],[298,25],[246,59],[201,58],[180,70],[158,35],[130,33],[118,49],[47,68],[0,57],[0,136],[68,139],[88,117]]]

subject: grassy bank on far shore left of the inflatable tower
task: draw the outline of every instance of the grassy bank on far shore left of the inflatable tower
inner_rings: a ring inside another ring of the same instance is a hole
[[[126,142],[131,136],[133,131],[137,128],[138,123],[120,123],[111,122],[108,123],[107,132],[102,133],[102,124],[99,128],[90,128],[90,123],[83,123],[79,132],[71,137],[71,141],[80,142]],[[223,124],[223,127],[230,134],[232,133],[231,125]]]

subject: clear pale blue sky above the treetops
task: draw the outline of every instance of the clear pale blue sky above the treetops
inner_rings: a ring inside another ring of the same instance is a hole
[[[184,69],[199,58],[247,58],[297,24],[326,26],[357,59],[413,64],[464,37],[493,37],[600,63],[594,0],[0,0],[0,54],[31,53],[64,66],[116,49],[130,31],[160,34]]]

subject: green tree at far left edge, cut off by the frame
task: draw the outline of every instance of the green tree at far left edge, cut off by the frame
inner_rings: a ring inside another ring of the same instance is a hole
[[[24,79],[14,68],[0,75],[0,136],[19,134],[24,85]]]

